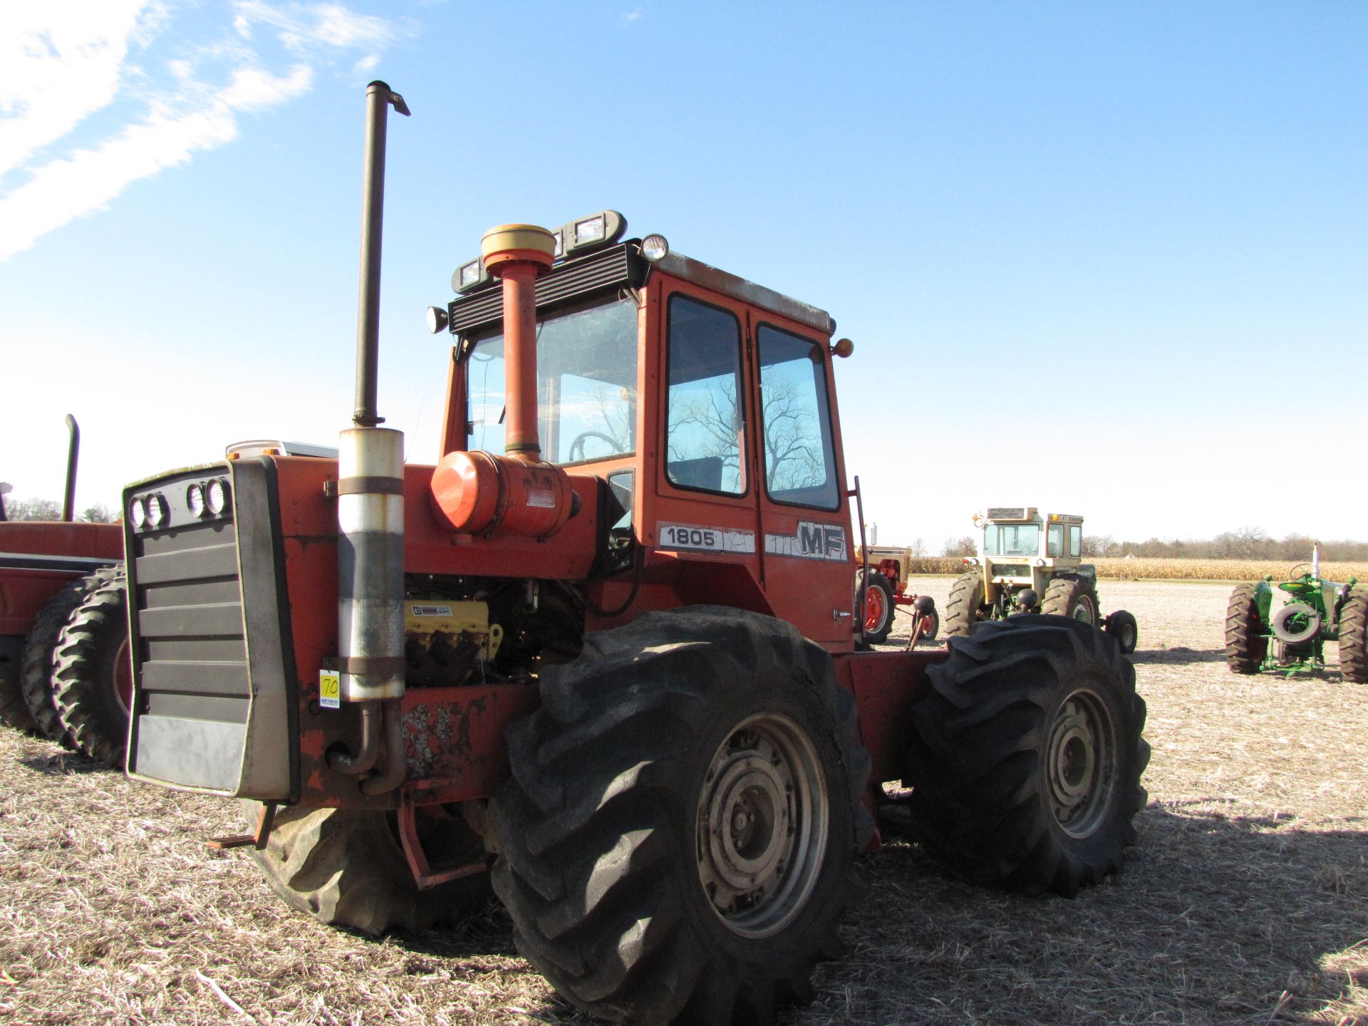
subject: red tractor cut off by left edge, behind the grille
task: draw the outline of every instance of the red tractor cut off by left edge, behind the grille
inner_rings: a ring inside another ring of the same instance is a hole
[[[77,523],[81,432],[60,521],[7,517],[0,495],[0,721],[122,766],[133,699],[123,528]]]

